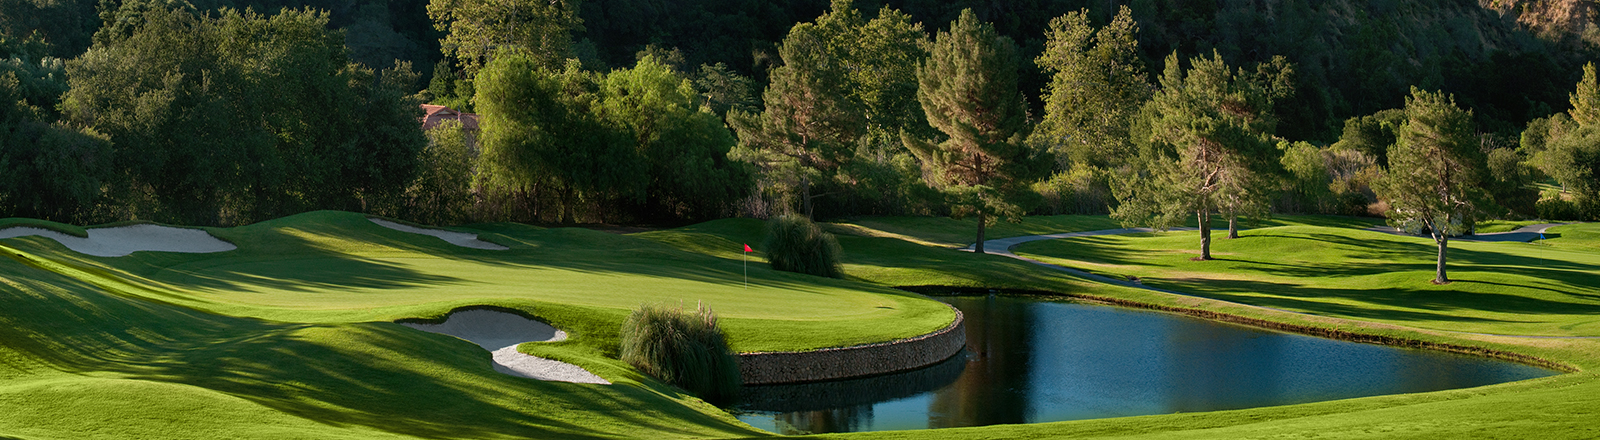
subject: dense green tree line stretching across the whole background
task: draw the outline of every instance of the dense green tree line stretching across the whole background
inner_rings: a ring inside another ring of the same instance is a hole
[[[59,3],[74,19],[0,29],[0,208],[192,224],[323,208],[430,222],[952,214],[979,218],[979,242],[1026,213],[1221,216],[1229,237],[1272,213],[1390,214],[1446,235],[1600,213],[1600,86],[1574,64],[1589,43],[1491,10],[678,3],[106,0],[93,18]],[[373,51],[363,22],[411,42],[378,46],[432,48]],[[478,112],[482,131],[424,134],[429,101]],[[1397,176],[1427,165],[1413,131],[1438,102],[1469,122],[1450,149],[1470,157],[1453,174],[1470,210],[1410,216],[1426,203]]]

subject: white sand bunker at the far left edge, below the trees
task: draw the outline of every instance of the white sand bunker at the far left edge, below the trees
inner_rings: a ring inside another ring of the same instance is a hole
[[[0,229],[0,238],[16,238],[38,235],[61,242],[72,251],[93,256],[128,256],[136,251],[162,253],[222,253],[238,246],[218,240],[210,232],[200,229],[182,229],[157,224],[136,224],[120,227],[90,229],[90,237],[74,237],[38,227],[6,227]]]

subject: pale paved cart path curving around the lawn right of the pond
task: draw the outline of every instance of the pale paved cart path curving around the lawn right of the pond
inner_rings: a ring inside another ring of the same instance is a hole
[[[1517,230],[1512,230],[1512,232],[1478,234],[1478,235],[1475,235],[1475,238],[1478,238],[1478,240],[1472,240],[1472,242],[1528,242],[1528,240],[1538,238],[1539,234],[1544,234],[1546,229],[1550,229],[1550,227],[1555,227],[1555,226],[1562,226],[1562,224],[1557,224],[1557,222],[1534,224],[1534,226],[1518,227]],[[1384,229],[1389,229],[1389,230],[1379,230],[1379,227],[1370,227],[1366,230],[1384,232],[1384,234],[1395,234],[1395,235],[1410,235],[1410,234],[1395,230],[1394,227],[1384,227]],[[1067,274],[1072,274],[1072,275],[1077,275],[1077,277],[1082,277],[1082,278],[1088,278],[1088,280],[1094,280],[1094,282],[1101,282],[1101,283],[1110,283],[1110,285],[1120,285],[1120,286],[1131,286],[1131,288],[1142,288],[1142,290],[1160,291],[1160,293],[1166,293],[1166,294],[1202,298],[1202,299],[1210,299],[1210,301],[1216,301],[1216,302],[1222,302],[1222,304],[1234,304],[1234,306],[1243,306],[1243,307],[1256,307],[1256,309],[1266,309],[1266,310],[1285,312],[1285,314],[1294,314],[1294,315],[1322,317],[1322,315],[1317,315],[1317,314],[1306,314],[1306,312],[1283,310],[1283,309],[1274,309],[1274,307],[1264,307],[1264,306],[1254,306],[1254,304],[1232,302],[1232,301],[1205,298],[1205,296],[1197,296],[1197,294],[1189,294],[1189,293],[1181,293],[1181,291],[1173,291],[1173,290],[1165,290],[1165,288],[1154,288],[1154,286],[1147,286],[1147,285],[1142,285],[1142,283],[1133,282],[1133,280],[1122,280],[1122,278],[1112,278],[1112,277],[1106,277],[1106,275],[1096,275],[1096,274],[1083,272],[1083,270],[1078,270],[1078,269],[1072,269],[1072,267],[1066,267],[1066,266],[1059,266],[1059,264],[1050,264],[1050,262],[1043,262],[1043,261],[1037,261],[1037,259],[1032,259],[1032,258],[1026,258],[1026,256],[1019,256],[1019,254],[1011,253],[1011,248],[1014,248],[1016,245],[1021,245],[1021,243],[1027,243],[1027,242],[1056,240],[1056,238],[1074,238],[1074,237],[1093,237],[1093,235],[1122,235],[1122,234],[1152,232],[1152,230],[1154,229],[1149,229],[1149,227],[1128,227],[1128,229],[1102,229],[1102,230],[1085,230],[1085,232],[1061,232],[1061,234],[1045,234],[1045,235],[1008,237],[1008,238],[984,240],[984,251],[990,253],[990,254],[997,254],[997,256],[1005,256],[1005,258],[1014,258],[1014,259],[1027,261],[1027,262],[1032,262],[1032,264],[1038,264],[1038,266],[1050,267],[1050,269],[1054,269],[1054,270],[1067,272]],[[1195,230],[1195,227],[1174,227],[1174,229],[1170,229],[1170,230]],[[1240,230],[1243,230],[1243,229],[1240,229]],[[1517,234],[1531,234],[1533,238],[1517,240],[1520,237],[1526,237],[1526,235],[1517,235]],[[1491,237],[1491,238],[1483,240],[1483,237]],[[1506,237],[1506,238],[1501,238],[1501,237]],[[963,251],[973,251],[973,246],[966,246],[966,248],[963,248]],[[1445,333],[1456,333],[1456,334],[1475,334],[1475,336],[1498,336],[1498,338],[1522,338],[1522,339],[1600,339],[1600,336],[1526,336],[1526,334],[1493,334],[1493,333],[1470,333],[1470,331],[1432,330],[1432,328],[1430,328],[1430,331],[1445,331]]]

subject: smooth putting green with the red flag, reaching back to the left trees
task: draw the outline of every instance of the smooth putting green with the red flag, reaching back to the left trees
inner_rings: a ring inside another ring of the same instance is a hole
[[[749,352],[910,338],[954,318],[944,304],[914,294],[776,272],[765,264],[749,267],[746,286],[741,262],[637,237],[517,226],[456,230],[478,232],[512,250],[459,248],[334,211],[211,229],[238,245],[218,254],[91,258],[46,238],[24,238],[19,248],[141,283],[136,294],[152,299],[282,322],[389,322],[502,301],[536,310],[579,307],[584,312],[574,315],[608,326],[598,336],[614,346],[614,328],[640,304],[704,302],[723,317],[733,347]]]

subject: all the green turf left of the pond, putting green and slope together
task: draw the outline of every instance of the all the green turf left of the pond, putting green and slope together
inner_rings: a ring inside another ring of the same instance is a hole
[[[949,323],[942,304],[581,229],[474,226],[477,251],[310,213],[211,229],[238,251],[91,258],[0,245],[0,435],[21,438],[584,438],[755,435],[614,360],[640,302],[704,299],[736,347],[875,342]],[[494,373],[469,342],[394,323],[522,309],[573,338],[525,352],[614,386]]]

